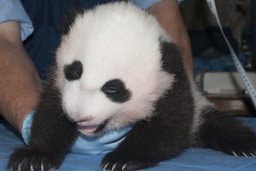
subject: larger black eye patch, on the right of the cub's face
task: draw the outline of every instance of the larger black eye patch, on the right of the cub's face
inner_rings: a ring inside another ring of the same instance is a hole
[[[104,84],[101,91],[110,100],[123,103],[131,99],[132,93],[125,88],[125,84],[120,79],[112,79]]]

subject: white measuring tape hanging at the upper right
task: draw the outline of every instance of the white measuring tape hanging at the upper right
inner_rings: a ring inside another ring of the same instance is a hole
[[[245,84],[245,87],[251,97],[251,100],[254,104],[254,108],[256,109],[256,90],[255,90],[255,87],[253,86],[250,78],[248,77],[248,75],[246,74],[246,71],[244,70],[243,66],[241,65],[236,53],[234,53],[234,50],[233,48],[231,47],[227,37],[225,36],[223,30],[222,30],[222,27],[221,27],[221,23],[220,23],[220,19],[219,19],[219,16],[218,16],[218,13],[217,13],[217,9],[216,9],[216,5],[215,5],[215,1],[214,0],[206,0],[212,14],[214,14],[214,17],[215,17],[215,20],[218,24],[218,26],[220,27],[220,30],[221,30],[221,33],[226,41],[226,44],[228,46],[228,49],[230,51],[230,54],[232,56],[232,59],[234,61],[234,65],[236,66],[237,70],[238,70],[238,73],[239,75],[241,76],[244,84]]]

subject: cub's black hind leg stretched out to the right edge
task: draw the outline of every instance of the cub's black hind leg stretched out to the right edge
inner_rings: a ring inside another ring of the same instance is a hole
[[[214,109],[204,115],[204,120],[198,136],[202,147],[238,156],[256,152],[255,133],[240,120]]]

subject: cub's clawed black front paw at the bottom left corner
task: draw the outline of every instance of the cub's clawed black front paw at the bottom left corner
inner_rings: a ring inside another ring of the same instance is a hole
[[[59,165],[51,155],[24,147],[17,148],[11,155],[8,168],[10,170],[49,170],[56,169]]]

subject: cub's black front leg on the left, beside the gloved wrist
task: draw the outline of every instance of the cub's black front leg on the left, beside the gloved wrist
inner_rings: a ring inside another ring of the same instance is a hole
[[[75,126],[63,115],[59,91],[52,82],[50,78],[41,94],[29,145],[17,148],[10,157],[8,167],[11,170],[58,168],[77,137]]]

